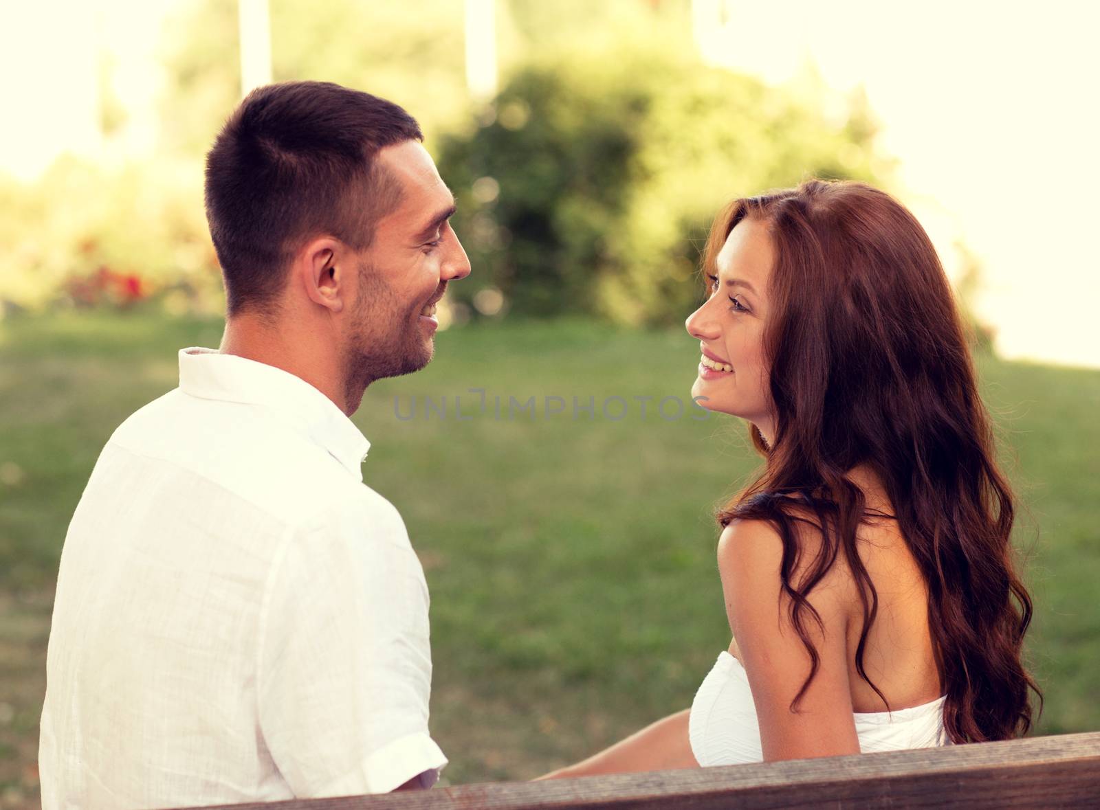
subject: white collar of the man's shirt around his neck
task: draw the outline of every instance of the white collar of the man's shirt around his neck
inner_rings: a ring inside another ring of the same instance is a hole
[[[179,351],[179,388],[201,399],[257,404],[287,419],[359,480],[371,443],[336,402],[282,368],[212,348]]]

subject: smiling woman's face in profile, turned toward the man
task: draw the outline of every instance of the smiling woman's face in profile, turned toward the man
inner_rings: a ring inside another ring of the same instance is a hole
[[[774,435],[763,332],[769,311],[768,282],[776,248],[768,223],[741,220],[729,232],[708,277],[706,301],[688,319],[688,332],[702,346],[692,386],[700,406],[752,422],[770,443]]]

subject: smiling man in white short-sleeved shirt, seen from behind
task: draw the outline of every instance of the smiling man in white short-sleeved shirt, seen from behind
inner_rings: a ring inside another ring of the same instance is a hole
[[[431,358],[470,273],[399,107],[251,93],[207,156],[228,314],[108,442],[62,554],[42,713],[52,808],[430,787],[428,592],[349,415]]]

